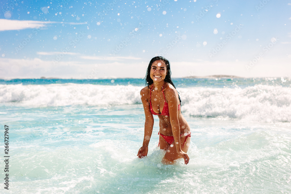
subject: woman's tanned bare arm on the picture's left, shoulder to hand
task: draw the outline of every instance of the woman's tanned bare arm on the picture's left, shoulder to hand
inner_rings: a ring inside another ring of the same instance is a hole
[[[139,149],[137,156],[142,158],[148,154],[148,144],[152,136],[152,128],[154,126],[154,117],[150,112],[150,103],[148,102],[149,91],[148,87],[141,90],[141,101],[143,103],[143,110],[145,112],[145,133],[143,137],[143,146]]]

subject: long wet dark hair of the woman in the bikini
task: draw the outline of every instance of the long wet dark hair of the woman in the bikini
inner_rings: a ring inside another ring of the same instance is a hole
[[[167,68],[167,75],[165,77],[165,81],[170,83],[172,86],[174,86],[174,88],[176,89],[172,79],[171,79],[171,68],[170,68],[170,61],[162,56],[157,56],[157,57],[154,57],[150,60],[150,63],[148,64],[148,70],[146,72],[146,75],[145,75],[145,86],[148,86],[148,88],[150,87],[150,85],[152,83],[154,83],[154,81],[152,80],[152,78],[150,78],[150,68],[152,67],[152,63],[154,63],[156,60],[161,60],[161,61],[164,61],[165,64],[166,64],[166,68]],[[179,101],[180,101],[180,104],[181,104],[181,99],[180,99],[180,95],[179,95],[179,92],[178,92],[178,97],[179,97]]]

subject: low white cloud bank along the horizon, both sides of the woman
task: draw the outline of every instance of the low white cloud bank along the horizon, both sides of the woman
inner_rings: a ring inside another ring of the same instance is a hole
[[[143,78],[148,61],[144,60],[65,60],[57,63],[40,58],[0,58],[0,79],[54,77],[61,79]],[[97,59],[97,58],[96,58]],[[134,58],[135,59],[135,58]],[[172,77],[234,75],[240,77],[281,77],[291,72],[291,58],[262,58],[249,70],[249,61],[173,61]],[[274,65],[276,64],[276,65]]]

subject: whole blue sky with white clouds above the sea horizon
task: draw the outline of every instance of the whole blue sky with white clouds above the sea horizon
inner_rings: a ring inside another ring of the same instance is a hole
[[[0,78],[291,74],[291,0],[1,1]]]

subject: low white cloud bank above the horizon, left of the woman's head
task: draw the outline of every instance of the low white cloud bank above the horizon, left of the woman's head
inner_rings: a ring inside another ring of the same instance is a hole
[[[146,66],[141,62],[120,60],[104,61],[66,61],[42,60],[40,58],[13,59],[0,58],[0,79],[25,79],[25,78],[61,78],[61,79],[87,79],[92,75],[93,79],[107,77],[144,77]]]

